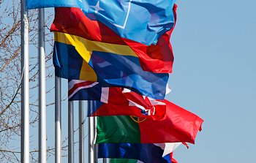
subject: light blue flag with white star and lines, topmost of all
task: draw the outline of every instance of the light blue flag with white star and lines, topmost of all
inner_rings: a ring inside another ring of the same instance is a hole
[[[121,37],[156,44],[174,24],[175,0],[27,0],[27,8],[79,7],[91,20],[105,23]],[[139,13],[139,14],[138,14]]]

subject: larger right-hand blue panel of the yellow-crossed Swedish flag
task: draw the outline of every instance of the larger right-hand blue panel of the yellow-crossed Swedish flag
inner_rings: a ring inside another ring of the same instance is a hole
[[[106,63],[107,66],[102,67]],[[125,86],[153,99],[162,99],[165,96],[169,75],[144,71],[137,57],[93,52],[89,64],[101,78],[99,82]]]

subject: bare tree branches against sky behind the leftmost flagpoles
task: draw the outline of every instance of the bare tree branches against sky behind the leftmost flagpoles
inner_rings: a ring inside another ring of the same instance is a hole
[[[48,14],[49,15],[49,14]],[[52,15],[50,15],[52,16]],[[50,26],[49,18],[46,27]],[[30,47],[37,49],[37,10],[29,10]],[[48,30],[45,30],[49,33]],[[52,46],[52,34],[46,34],[46,43]],[[36,50],[35,50],[36,51]],[[53,76],[50,61],[52,53],[46,56],[46,77]],[[30,55],[30,109],[31,126],[38,120],[38,57],[37,52]],[[0,160],[1,162],[20,162],[20,2],[0,0]],[[50,89],[51,90],[51,89]],[[49,91],[50,91],[49,90]],[[50,105],[50,104],[49,104]],[[14,144],[16,142],[16,144]],[[48,148],[48,154],[54,153]],[[37,149],[31,151],[31,162],[37,162]]]

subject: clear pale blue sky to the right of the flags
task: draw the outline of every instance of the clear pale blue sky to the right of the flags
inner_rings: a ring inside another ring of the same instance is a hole
[[[177,1],[171,102],[204,119],[179,163],[256,162],[256,1]]]

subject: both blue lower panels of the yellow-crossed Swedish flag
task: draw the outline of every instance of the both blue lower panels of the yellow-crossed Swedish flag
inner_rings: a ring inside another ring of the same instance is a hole
[[[83,58],[72,45],[55,42],[53,64],[56,76],[79,80],[82,61]],[[137,57],[94,51],[89,65],[102,86],[129,88],[153,99],[165,98],[169,75],[143,71]]]

